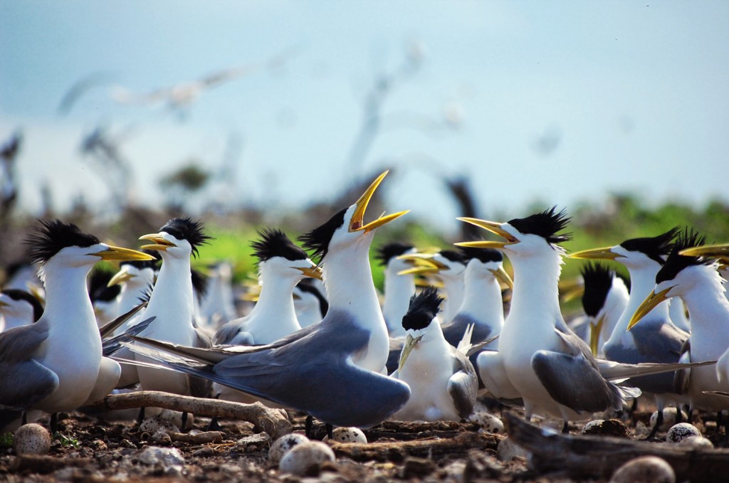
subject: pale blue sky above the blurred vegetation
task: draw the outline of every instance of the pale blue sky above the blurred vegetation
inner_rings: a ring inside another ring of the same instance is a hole
[[[421,67],[384,103],[387,129],[353,173],[367,87],[413,45]],[[285,66],[202,93],[184,119],[109,97],[113,85],[146,92],[291,48]],[[31,213],[42,183],[61,206],[79,193],[108,200],[78,149],[100,124],[126,133],[142,203],[159,203],[158,180],[185,160],[219,166],[230,136],[242,140],[238,168],[211,196],[272,213],[381,167],[394,168],[391,211],[444,229],[460,213],[439,175],[469,176],[484,216],[612,192],[729,201],[725,1],[3,1],[0,65],[0,139],[25,133]],[[59,116],[64,93],[97,72],[107,83]],[[448,127],[444,112],[462,119]]]

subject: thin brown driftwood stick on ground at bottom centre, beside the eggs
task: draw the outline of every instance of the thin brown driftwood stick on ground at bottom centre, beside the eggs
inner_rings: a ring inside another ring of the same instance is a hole
[[[337,457],[355,461],[402,462],[408,456],[418,458],[461,457],[469,449],[496,449],[503,436],[487,433],[460,433],[447,439],[418,439],[391,443],[332,443],[330,446]]]

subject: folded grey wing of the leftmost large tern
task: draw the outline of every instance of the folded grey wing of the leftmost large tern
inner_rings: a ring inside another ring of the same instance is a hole
[[[47,337],[47,321],[0,334],[0,405],[28,409],[58,388],[55,372],[32,358]]]

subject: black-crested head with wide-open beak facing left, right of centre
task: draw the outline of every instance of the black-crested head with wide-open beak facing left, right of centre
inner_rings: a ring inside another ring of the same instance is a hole
[[[461,221],[474,224],[477,227],[499,235],[503,241],[472,241],[456,243],[458,246],[473,248],[496,248],[510,256],[531,256],[543,254],[547,249],[562,253],[559,243],[572,239],[569,233],[560,234],[569,223],[569,217],[564,210],[557,212],[557,207],[534,213],[526,218],[515,218],[505,223],[486,221],[476,218],[459,218]]]

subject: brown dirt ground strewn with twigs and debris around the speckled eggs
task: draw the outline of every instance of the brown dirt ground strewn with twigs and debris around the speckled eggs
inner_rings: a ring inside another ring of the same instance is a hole
[[[513,412],[512,410],[509,410]],[[495,412],[499,415],[499,412]],[[514,414],[521,417],[516,411]],[[628,439],[647,433],[650,412],[636,412],[623,428]],[[303,433],[303,415],[289,415],[295,432]],[[197,418],[187,434],[204,435],[209,419]],[[46,425],[47,418],[39,423]],[[542,421],[542,425],[558,425]],[[214,441],[171,441],[140,430],[133,420],[108,422],[103,416],[73,412],[61,415],[58,435],[48,455],[16,456],[12,447],[0,447],[0,481],[7,482],[286,482],[316,481],[283,474],[268,462],[270,437],[255,433],[254,425],[235,420],[220,422],[222,434]],[[699,423],[712,437],[712,422]],[[582,423],[571,423],[579,434]],[[509,462],[496,458],[504,434],[479,433],[475,423],[397,423],[364,431],[374,452],[353,451],[355,445],[334,444],[337,459],[313,470],[323,482],[561,482],[572,481],[558,474],[538,474],[526,458]],[[325,435],[324,425],[313,428],[315,439]],[[617,436],[611,434],[611,436]],[[664,437],[665,433],[659,433]],[[722,442],[722,436],[714,436]],[[373,445],[373,443],[377,443]],[[384,444],[383,444],[384,443]],[[386,444],[389,443],[389,444]],[[452,443],[452,444],[451,444]],[[444,445],[445,444],[445,445]],[[450,445],[449,445],[450,444]],[[656,443],[660,444],[660,443]],[[168,460],[156,460],[157,448],[177,449]],[[601,480],[593,480],[601,481]]]

